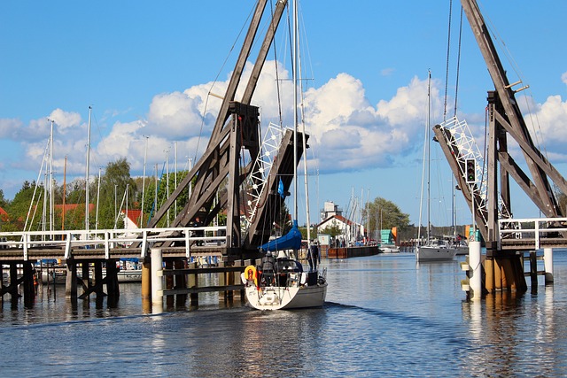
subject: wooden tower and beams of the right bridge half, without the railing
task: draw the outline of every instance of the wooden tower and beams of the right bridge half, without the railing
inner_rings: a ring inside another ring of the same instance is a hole
[[[462,0],[461,3],[494,83],[494,90],[488,92],[487,98],[489,132],[485,196],[480,195],[478,182],[467,181],[463,151],[459,149],[458,143],[455,143],[457,136],[447,127],[437,125],[434,127],[435,137],[445,153],[462,194],[473,212],[476,226],[486,243],[486,291],[491,292],[503,287],[525,290],[527,287],[521,256],[509,249],[503,251],[499,240],[499,218],[511,218],[512,215],[509,179],[510,177],[514,179],[548,218],[563,216],[554,189],[559,189],[563,194],[567,193],[567,182],[533,143],[515,97],[517,91],[525,87],[515,90],[513,87],[521,82],[509,83],[477,2]],[[516,141],[522,149],[531,179],[510,157],[509,138]],[[555,188],[548,178],[555,183]]]

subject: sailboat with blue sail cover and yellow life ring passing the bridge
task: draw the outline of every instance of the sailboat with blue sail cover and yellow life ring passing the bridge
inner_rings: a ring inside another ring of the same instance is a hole
[[[293,145],[294,161],[297,159],[297,131],[298,131],[298,7],[293,2]],[[306,150],[305,127],[303,128],[303,147]],[[307,181],[307,157],[304,153],[304,167]],[[291,231],[282,237],[260,246],[265,251],[261,266],[247,266],[241,274],[245,283],[245,293],[248,304],[257,310],[288,310],[294,308],[321,307],[327,294],[326,270],[322,272],[316,268],[305,272],[299,260],[297,251],[301,248],[301,233],[298,229],[298,174],[297,165],[293,165],[294,204],[293,225]],[[306,183],[306,197],[307,183]],[[307,199],[307,238],[310,239],[309,204]],[[273,251],[273,252],[272,252]],[[277,256],[273,256],[272,253]]]

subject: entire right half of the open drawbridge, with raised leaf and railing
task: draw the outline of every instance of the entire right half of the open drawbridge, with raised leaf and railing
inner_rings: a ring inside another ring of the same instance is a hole
[[[475,0],[461,3],[494,84],[487,96],[486,151],[478,150],[464,121],[447,120],[433,130],[485,241],[483,291],[524,291],[524,252],[531,251],[533,259],[536,250],[567,246],[567,219],[557,200],[567,193],[567,182],[533,143],[516,99],[525,87],[517,87],[520,81],[509,83],[478,4]],[[522,150],[529,172],[510,156],[510,140]],[[510,178],[546,218],[512,218]]]

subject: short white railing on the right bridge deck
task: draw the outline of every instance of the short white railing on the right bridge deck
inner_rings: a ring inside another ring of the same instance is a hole
[[[567,218],[526,218],[498,220],[500,240],[533,240],[533,248],[541,249],[541,241],[560,238],[567,232]]]

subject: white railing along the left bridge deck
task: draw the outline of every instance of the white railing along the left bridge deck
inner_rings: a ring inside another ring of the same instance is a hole
[[[225,235],[225,226],[2,232],[0,233],[0,254],[6,249],[21,249],[23,250],[23,258],[27,261],[29,249],[52,247],[64,249],[65,258],[70,258],[73,248],[94,249],[104,246],[105,258],[108,259],[113,248],[141,243],[140,256],[144,258],[153,243],[183,242],[185,255],[190,258],[190,247],[193,242],[205,245],[212,243],[214,245],[226,245]]]

